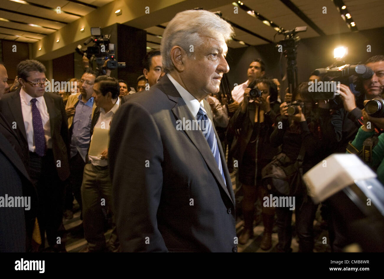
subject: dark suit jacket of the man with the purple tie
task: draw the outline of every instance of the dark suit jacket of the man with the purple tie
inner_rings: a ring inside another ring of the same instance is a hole
[[[68,157],[70,152],[70,140],[68,134],[68,122],[65,113],[63,99],[51,92],[44,93],[44,99],[48,108],[51,125],[51,138],[54,163],[61,161],[61,167],[56,168],[58,175],[62,181],[66,180],[70,175]],[[29,159],[28,141],[23,121],[22,105],[20,99],[20,89],[5,94],[0,100],[0,111],[3,113],[8,123],[12,125],[16,122],[17,129],[14,129],[17,137],[22,142],[24,158]],[[25,162],[28,162],[24,160]]]

